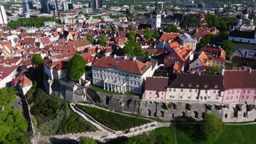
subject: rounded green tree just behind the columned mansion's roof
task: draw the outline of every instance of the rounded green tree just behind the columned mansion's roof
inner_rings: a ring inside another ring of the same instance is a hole
[[[123,49],[123,53],[126,55],[136,55],[136,56],[142,56],[143,55],[143,50],[141,45],[136,42],[130,42],[126,44]]]

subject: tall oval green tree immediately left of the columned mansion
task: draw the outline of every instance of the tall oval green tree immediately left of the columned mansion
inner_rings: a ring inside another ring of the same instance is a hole
[[[79,77],[85,73],[86,61],[78,54],[75,54],[73,58],[68,62],[68,77],[74,82],[78,82]]]

